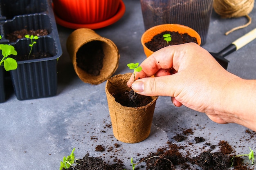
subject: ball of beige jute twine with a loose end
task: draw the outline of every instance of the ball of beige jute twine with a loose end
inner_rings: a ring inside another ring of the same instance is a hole
[[[213,8],[222,18],[239,18],[245,16],[248,19],[247,24],[237,26],[227,31],[225,35],[251,24],[252,18],[248,14],[252,11],[253,7],[254,0],[213,0]]]

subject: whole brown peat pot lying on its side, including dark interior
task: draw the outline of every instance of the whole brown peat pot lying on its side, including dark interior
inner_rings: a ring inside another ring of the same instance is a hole
[[[87,28],[76,29],[70,34],[67,52],[78,77],[95,85],[115,73],[120,58],[117,46],[111,40]]]

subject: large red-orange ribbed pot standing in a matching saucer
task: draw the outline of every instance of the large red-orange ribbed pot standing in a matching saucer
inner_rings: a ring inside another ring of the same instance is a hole
[[[102,22],[117,13],[120,0],[53,0],[54,12],[71,23]]]

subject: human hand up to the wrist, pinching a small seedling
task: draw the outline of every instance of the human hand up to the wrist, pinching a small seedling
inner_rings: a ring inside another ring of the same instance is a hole
[[[234,122],[227,114],[225,89],[240,79],[226,71],[202,47],[195,43],[168,46],[153,53],[127,82],[147,96],[171,96],[175,106],[187,106],[206,113],[210,119],[225,124]],[[151,77],[155,75],[155,77]]]

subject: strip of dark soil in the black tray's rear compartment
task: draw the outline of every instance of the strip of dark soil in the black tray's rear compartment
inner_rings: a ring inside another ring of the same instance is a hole
[[[46,29],[38,29],[38,30],[17,30],[12,33],[6,35],[6,39],[10,42],[16,42],[20,38],[25,38],[25,35],[36,35],[36,36],[44,36],[48,35],[48,31]]]

